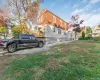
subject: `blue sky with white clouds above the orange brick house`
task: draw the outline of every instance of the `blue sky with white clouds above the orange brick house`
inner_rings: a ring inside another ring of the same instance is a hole
[[[72,15],[84,20],[83,26],[100,24],[100,0],[44,0],[41,9],[48,9],[57,16],[70,21]]]

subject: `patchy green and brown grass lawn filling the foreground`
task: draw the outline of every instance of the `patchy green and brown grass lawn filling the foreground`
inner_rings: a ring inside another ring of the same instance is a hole
[[[75,41],[5,60],[0,64],[4,66],[0,80],[100,80],[100,43],[92,41]]]

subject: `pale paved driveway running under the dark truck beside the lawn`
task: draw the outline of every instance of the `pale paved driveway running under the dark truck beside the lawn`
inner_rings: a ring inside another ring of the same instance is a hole
[[[71,41],[64,41],[64,42],[57,42],[57,43],[54,43],[54,44],[48,44],[48,45],[45,45],[43,48],[21,49],[21,50],[17,50],[14,53],[8,53],[7,51],[4,51],[4,50],[0,49],[0,56],[3,56],[3,54],[5,54],[5,55],[34,54],[34,53],[38,53],[38,52],[41,52],[41,51],[47,51],[47,50],[50,49],[51,46],[58,45],[58,44],[63,44],[63,43],[67,44],[69,42],[71,42]]]

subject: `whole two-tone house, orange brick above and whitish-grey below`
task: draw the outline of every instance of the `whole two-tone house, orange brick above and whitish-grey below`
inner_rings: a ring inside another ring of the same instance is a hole
[[[49,10],[43,9],[40,12],[38,25],[35,29],[43,37],[68,38],[68,23]]]

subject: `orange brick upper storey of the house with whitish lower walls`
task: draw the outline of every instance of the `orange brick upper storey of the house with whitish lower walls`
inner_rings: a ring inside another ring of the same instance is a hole
[[[68,30],[68,23],[66,21],[46,9],[40,12],[38,23],[39,25],[49,24],[63,30]]]

